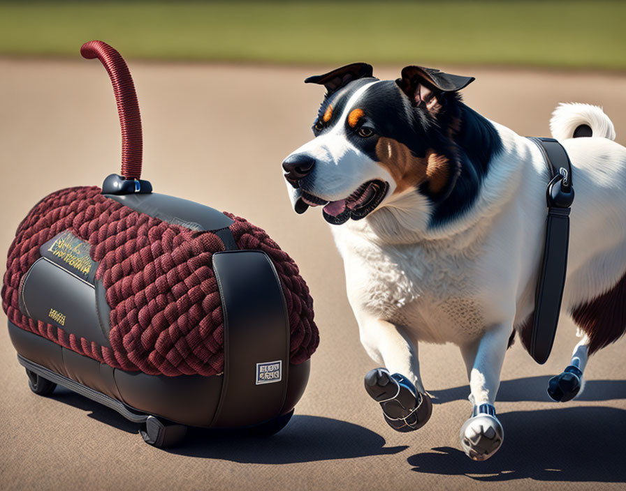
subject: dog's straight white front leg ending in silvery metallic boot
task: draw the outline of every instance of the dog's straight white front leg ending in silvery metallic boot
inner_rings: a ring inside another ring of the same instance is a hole
[[[473,409],[472,416],[461,427],[460,443],[472,460],[487,460],[504,440],[504,430],[495,415],[494,402],[510,333],[510,326],[496,326],[479,341],[461,347]]]

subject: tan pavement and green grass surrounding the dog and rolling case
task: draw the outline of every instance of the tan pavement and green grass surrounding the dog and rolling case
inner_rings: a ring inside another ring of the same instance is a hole
[[[330,229],[319,209],[293,212],[280,163],[311,138],[323,87],[305,77],[354,61],[382,79],[409,64],[473,75],[465,102],[521,135],[548,136],[558,103],[601,105],[626,144],[625,20],[620,1],[0,1],[0,258],[39,199],[119,172],[110,81],[79,54],[100,39],[136,84],[143,179],[265,228],[300,267],[321,334],[282,432],[167,452],[80,396],[32,394],[0,326],[0,489],[623,489],[626,341],[594,356],[580,399],[557,405],[546,384],[576,344],[567,322],[545,365],[509,350],[507,439],[488,462],[458,449],[469,388],[451,345],[420,347],[428,425],[389,429],[363,391],[374,365]]]

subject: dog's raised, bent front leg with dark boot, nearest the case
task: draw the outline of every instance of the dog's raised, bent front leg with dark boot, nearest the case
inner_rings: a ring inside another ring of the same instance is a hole
[[[379,402],[391,428],[400,432],[421,428],[430,418],[432,404],[420,379],[417,346],[402,328],[386,321],[370,320],[359,328],[367,354],[386,367],[365,375],[365,390]]]

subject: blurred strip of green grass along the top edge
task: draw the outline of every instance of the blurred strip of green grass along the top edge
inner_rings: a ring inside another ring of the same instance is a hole
[[[0,2],[0,54],[626,69],[621,1]]]

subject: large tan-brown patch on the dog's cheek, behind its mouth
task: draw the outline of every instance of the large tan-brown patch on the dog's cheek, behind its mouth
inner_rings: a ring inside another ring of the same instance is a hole
[[[420,158],[414,156],[405,144],[393,138],[380,137],[376,144],[376,155],[379,165],[387,169],[395,181],[394,194],[416,188],[427,180],[428,188],[432,192],[439,192],[448,182],[449,160],[433,150],[427,151],[425,157]]]

